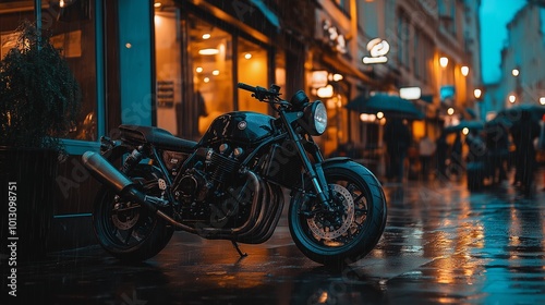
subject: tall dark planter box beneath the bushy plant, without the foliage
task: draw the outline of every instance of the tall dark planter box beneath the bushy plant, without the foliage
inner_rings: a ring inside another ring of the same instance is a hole
[[[57,194],[57,160],[53,149],[0,146],[3,257],[16,256],[21,261],[46,254]]]

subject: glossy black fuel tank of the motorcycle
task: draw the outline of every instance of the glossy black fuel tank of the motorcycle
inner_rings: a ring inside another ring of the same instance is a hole
[[[201,143],[229,141],[242,146],[252,146],[272,134],[274,120],[270,115],[257,112],[228,112],[211,122]]]

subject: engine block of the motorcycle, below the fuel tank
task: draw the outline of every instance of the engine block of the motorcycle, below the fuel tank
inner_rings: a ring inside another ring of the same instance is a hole
[[[182,174],[174,194],[184,221],[208,223],[221,203],[233,196],[229,190],[240,175],[239,158],[243,149],[221,144],[217,149],[199,148],[196,155],[198,160]]]

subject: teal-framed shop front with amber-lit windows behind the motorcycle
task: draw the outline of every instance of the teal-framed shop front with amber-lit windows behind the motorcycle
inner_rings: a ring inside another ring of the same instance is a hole
[[[305,89],[306,42],[314,29],[302,19],[314,20],[313,2],[267,2],[2,1],[2,54],[23,20],[39,20],[83,94],[82,113],[62,138],[68,156],[56,178],[51,249],[95,243],[90,217],[100,185],[81,156],[98,151],[99,138],[116,135],[119,124],[155,125],[198,139],[219,113],[274,115],[238,83],[277,84],[286,99]]]

